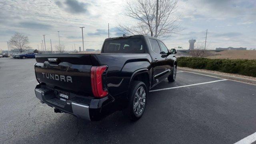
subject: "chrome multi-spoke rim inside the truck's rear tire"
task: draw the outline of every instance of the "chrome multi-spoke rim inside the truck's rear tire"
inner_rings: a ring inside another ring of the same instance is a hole
[[[146,104],[146,91],[143,86],[140,86],[135,93],[133,110],[135,114],[139,115],[145,108]]]

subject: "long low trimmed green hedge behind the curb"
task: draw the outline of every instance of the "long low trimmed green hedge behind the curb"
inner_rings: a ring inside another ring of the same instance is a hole
[[[256,77],[256,60],[179,57],[178,66]]]

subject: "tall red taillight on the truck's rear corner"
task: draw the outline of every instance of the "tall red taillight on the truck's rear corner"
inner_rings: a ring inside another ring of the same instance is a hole
[[[103,89],[102,84],[102,74],[107,68],[107,66],[92,66],[91,68],[92,93],[97,98],[102,98],[108,94],[108,91]]]

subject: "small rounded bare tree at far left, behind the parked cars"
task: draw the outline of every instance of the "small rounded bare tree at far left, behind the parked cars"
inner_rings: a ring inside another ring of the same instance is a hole
[[[28,43],[28,36],[24,36],[19,32],[16,32],[9,40],[11,48],[20,52],[30,48],[30,46],[27,45]]]

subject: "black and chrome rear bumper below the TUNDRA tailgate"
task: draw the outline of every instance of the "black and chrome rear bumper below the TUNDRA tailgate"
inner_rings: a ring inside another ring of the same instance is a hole
[[[35,93],[42,103],[85,120],[100,120],[116,111],[114,98],[110,95],[101,99],[94,99],[94,97],[74,96],[70,93],[73,96],[70,97],[70,100],[64,102],[56,97],[56,91],[45,88],[40,84],[36,86]]]

